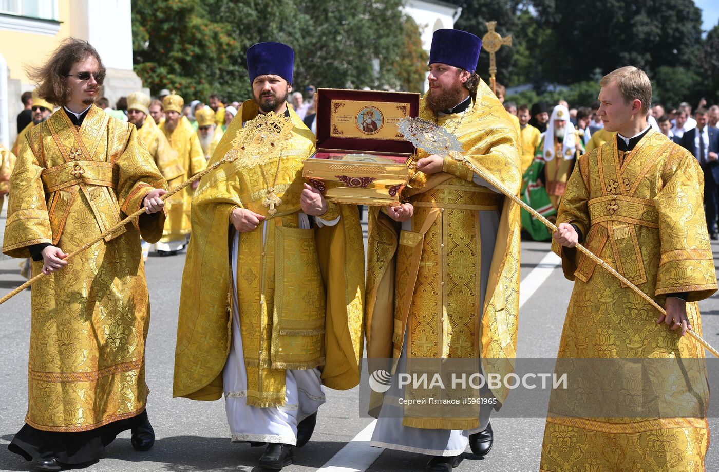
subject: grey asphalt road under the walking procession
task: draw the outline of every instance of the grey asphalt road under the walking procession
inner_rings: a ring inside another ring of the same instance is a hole
[[[4,226],[4,218],[0,218]],[[521,274],[533,271],[549,250],[549,244],[525,241],[521,250]],[[719,245],[714,245],[719,254]],[[136,453],[129,432],[109,445],[99,463],[86,471],[252,471],[261,448],[231,443],[223,401],[173,399],[172,376],[177,313],[184,255],[151,257],[147,263],[152,316],[147,340],[147,382],[152,393],[147,411],[155,427],[155,447]],[[550,266],[551,268],[551,266]],[[18,261],[0,260],[0,296],[22,283]],[[572,285],[554,268],[520,310],[518,357],[551,358],[557,353],[564,312]],[[9,453],[5,447],[23,424],[27,408],[27,352],[29,341],[30,292],[24,291],[0,307],[0,470],[27,471],[30,463]],[[719,345],[719,298],[700,304],[705,338]],[[371,419],[360,417],[357,389],[327,390],[328,401],[319,410],[312,440],[297,449],[295,463],[286,471],[316,471],[349,443]],[[510,397],[511,398],[511,397]],[[716,401],[714,399],[714,401]],[[537,471],[544,430],[544,411],[534,418],[493,419],[495,443],[490,454],[476,459],[464,453],[456,471]],[[719,470],[719,422],[710,419],[713,440],[707,455],[707,471]],[[373,448],[372,448],[373,449]],[[362,450],[360,448],[360,450]],[[365,459],[367,454],[364,455]],[[370,459],[371,460],[371,459]],[[385,450],[369,468],[326,468],[332,471],[423,471],[428,457]],[[351,466],[351,463],[342,464]],[[259,470],[259,469],[257,469]]]

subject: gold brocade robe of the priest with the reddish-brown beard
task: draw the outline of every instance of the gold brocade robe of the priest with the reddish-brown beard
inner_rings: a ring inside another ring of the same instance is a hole
[[[452,132],[464,155],[507,189],[521,186],[518,136],[502,104],[480,83],[464,114],[436,117],[423,101],[420,117]],[[426,157],[420,153],[418,158]],[[398,358],[405,333],[408,358],[480,358],[486,373],[513,372],[519,304],[520,207],[472,181],[472,170],[445,158],[443,172],[416,173],[403,196],[414,206],[412,231],[370,207],[367,245],[368,358]],[[426,177],[426,178],[425,178]],[[479,210],[501,217],[484,304],[480,307]],[[508,390],[493,395],[505,400]],[[497,408],[499,405],[497,406]],[[407,409],[406,409],[407,411]],[[403,425],[446,430],[477,427],[462,418],[404,417]]]

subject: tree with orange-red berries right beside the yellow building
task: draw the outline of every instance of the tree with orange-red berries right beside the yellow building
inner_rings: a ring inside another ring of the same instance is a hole
[[[152,94],[209,95],[228,65],[226,52],[237,47],[227,33],[196,1],[132,1],[134,70]]]

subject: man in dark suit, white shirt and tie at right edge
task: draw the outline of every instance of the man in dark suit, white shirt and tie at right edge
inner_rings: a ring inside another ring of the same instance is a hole
[[[694,155],[704,171],[704,212],[707,230],[713,240],[719,240],[716,217],[719,204],[719,128],[707,123],[709,118],[703,108],[695,112],[697,127],[684,132],[682,146]]]

